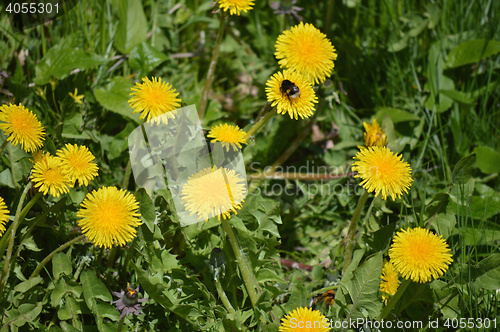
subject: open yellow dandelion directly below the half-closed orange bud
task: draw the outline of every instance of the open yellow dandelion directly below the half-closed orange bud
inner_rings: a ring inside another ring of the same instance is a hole
[[[410,164],[403,162],[386,147],[372,146],[361,149],[354,159],[352,170],[358,172],[354,177],[361,178],[361,185],[368,192],[375,191],[375,197],[382,192],[382,198],[390,194],[394,200],[401,197],[403,191],[408,193],[413,179]]]

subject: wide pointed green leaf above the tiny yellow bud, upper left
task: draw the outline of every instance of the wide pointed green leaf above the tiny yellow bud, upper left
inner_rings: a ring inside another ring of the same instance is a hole
[[[44,85],[50,82],[51,77],[64,79],[74,69],[88,68],[106,63],[108,60],[90,51],[73,46],[70,38],[65,38],[59,44],[50,48],[47,54],[36,65],[34,82]]]

